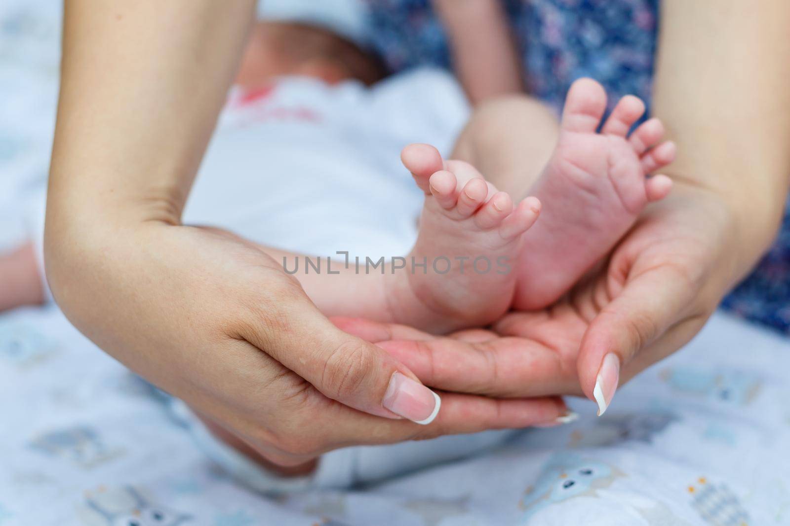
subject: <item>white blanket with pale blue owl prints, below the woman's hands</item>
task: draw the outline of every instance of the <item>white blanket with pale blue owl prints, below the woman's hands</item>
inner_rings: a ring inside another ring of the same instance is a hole
[[[788,341],[717,315],[600,419],[571,401],[576,423],[479,457],[267,499],[55,308],[17,311],[0,317],[0,524],[790,524],[788,371]]]

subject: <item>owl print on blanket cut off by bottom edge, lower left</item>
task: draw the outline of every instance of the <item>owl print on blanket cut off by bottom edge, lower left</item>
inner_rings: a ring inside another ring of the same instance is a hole
[[[145,498],[131,486],[100,488],[80,509],[85,526],[181,526],[192,517]]]

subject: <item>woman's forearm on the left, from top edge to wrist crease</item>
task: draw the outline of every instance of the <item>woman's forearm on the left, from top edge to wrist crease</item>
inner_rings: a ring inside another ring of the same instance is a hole
[[[48,226],[103,213],[178,222],[254,0],[65,3]]]

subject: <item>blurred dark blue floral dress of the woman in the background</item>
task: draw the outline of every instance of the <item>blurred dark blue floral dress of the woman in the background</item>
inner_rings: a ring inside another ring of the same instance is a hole
[[[530,91],[561,109],[570,84],[598,80],[610,104],[627,94],[651,100],[658,0],[502,0]],[[367,0],[370,41],[393,71],[450,67],[430,0]],[[768,255],[724,300],[724,308],[790,334],[790,215]]]

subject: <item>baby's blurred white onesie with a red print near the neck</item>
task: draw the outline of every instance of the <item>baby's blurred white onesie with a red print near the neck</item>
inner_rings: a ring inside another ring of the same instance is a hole
[[[423,199],[401,149],[448,152],[467,114],[456,82],[432,70],[374,88],[285,77],[234,91],[184,221],[316,256],[403,256]]]

